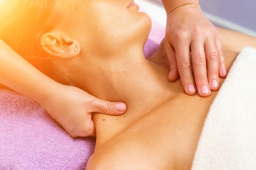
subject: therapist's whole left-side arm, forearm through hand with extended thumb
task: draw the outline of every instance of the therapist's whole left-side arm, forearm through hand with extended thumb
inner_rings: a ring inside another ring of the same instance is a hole
[[[120,115],[124,103],[99,100],[61,85],[34,68],[0,39],[0,83],[39,102],[71,136],[93,136],[92,112]]]

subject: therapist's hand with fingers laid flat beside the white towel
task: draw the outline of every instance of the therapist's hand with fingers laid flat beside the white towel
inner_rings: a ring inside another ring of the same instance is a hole
[[[167,13],[165,51],[169,81],[179,75],[188,95],[210,96],[211,90],[219,89],[218,77],[227,75],[217,30],[197,3]]]

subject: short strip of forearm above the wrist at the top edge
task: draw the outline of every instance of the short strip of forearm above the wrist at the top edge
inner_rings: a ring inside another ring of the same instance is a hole
[[[167,14],[175,10],[176,8],[184,5],[197,5],[199,6],[198,0],[162,0],[163,6]]]

